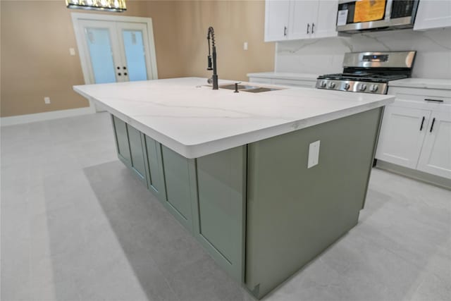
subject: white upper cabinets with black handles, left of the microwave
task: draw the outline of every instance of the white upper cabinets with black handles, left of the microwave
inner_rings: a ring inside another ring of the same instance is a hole
[[[335,37],[338,0],[266,0],[265,42]]]

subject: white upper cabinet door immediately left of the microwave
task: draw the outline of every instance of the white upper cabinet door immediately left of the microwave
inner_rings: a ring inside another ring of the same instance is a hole
[[[318,18],[312,27],[311,37],[336,37],[338,0],[319,1]]]

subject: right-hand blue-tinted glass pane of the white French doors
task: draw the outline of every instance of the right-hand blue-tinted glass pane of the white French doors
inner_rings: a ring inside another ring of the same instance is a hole
[[[122,30],[128,79],[147,80],[147,66],[141,30]]]

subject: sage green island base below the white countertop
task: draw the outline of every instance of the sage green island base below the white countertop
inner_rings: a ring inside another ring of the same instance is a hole
[[[382,109],[187,159],[113,117],[119,158],[261,298],[357,224]],[[309,145],[321,141],[308,168]]]

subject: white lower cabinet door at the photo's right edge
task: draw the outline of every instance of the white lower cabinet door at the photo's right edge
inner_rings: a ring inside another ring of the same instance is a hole
[[[426,130],[417,169],[451,178],[451,111],[434,112]]]

